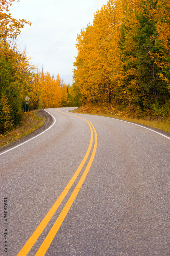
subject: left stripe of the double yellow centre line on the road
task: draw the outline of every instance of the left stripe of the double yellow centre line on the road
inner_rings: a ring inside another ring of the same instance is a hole
[[[60,112],[60,111],[58,111]],[[63,112],[61,112],[63,113]],[[70,115],[69,113],[66,113],[68,115]],[[76,115],[75,115],[76,116]],[[77,116],[80,119],[85,120],[84,118],[81,118],[79,116]],[[69,183],[67,184],[67,186],[65,187],[65,189],[62,191],[61,195],[58,197],[58,199],[56,200],[56,202],[54,203],[54,205],[51,207],[51,209],[49,210],[49,212],[47,213],[47,215],[44,217],[44,219],[41,221],[41,223],[38,225],[38,227],[35,229],[34,233],[31,235],[31,237],[28,239],[28,241],[24,244],[24,246],[22,247],[22,249],[19,251],[19,253],[17,254],[17,256],[26,256],[29,251],[31,250],[31,248],[33,247],[34,243],[37,241],[38,237],[41,235],[41,233],[43,232],[43,230],[45,229],[45,227],[47,226],[48,222],[50,221],[50,219],[53,217],[53,215],[55,214],[56,210],[58,209],[58,207],[60,206],[61,202],[63,201],[63,199],[66,197],[68,191],[70,190],[71,186],[73,185],[73,183],[75,182],[77,176],[79,175],[79,173],[81,172],[89,154],[90,154],[90,150],[93,144],[93,130],[91,128],[90,122],[88,120],[85,120],[91,130],[91,137],[90,137],[90,143],[87,149],[87,152],[83,158],[83,161],[81,162],[80,166],[78,167],[78,169],[76,170],[76,172],[74,173],[73,177],[71,178],[71,180],[69,181]]]

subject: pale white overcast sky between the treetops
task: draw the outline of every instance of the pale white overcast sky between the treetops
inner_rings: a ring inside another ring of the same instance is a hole
[[[26,45],[32,64],[61,76],[72,84],[76,38],[80,29],[93,22],[94,12],[108,0],[20,0],[10,7],[12,16],[26,19],[18,42]],[[60,42],[58,44],[58,42]]]

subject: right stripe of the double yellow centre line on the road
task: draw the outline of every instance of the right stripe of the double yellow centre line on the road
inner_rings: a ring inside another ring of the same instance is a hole
[[[90,122],[89,122],[90,123]],[[91,123],[90,123],[91,124]],[[93,126],[93,124],[91,124]],[[75,187],[72,195],[70,196],[69,200],[67,201],[66,205],[64,206],[63,210],[61,211],[59,217],[57,218],[56,222],[54,223],[53,227],[51,228],[51,230],[49,231],[48,235],[46,236],[46,238],[44,239],[43,243],[41,244],[40,248],[38,249],[37,253],[35,254],[35,256],[44,256],[45,253],[47,252],[51,242],[53,241],[55,235],[57,234],[62,222],[64,221],[66,215],[68,214],[68,211],[70,210],[70,207],[72,206],[74,199],[76,198],[77,194],[79,193],[79,190],[87,176],[87,173],[91,167],[91,164],[93,162],[95,153],[96,153],[96,148],[97,148],[97,133],[96,130],[93,126],[94,132],[95,132],[95,145],[93,148],[93,152],[91,154],[90,160],[87,164],[87,167],[84,170],[83,175],[81,176],[77,186]]]

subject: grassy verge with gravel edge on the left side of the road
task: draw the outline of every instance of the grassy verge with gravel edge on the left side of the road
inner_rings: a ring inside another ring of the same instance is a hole
[[[3,135],[0,134],[0,148],[4,148],[12,144],[19,138],[28,135],[29,133],[33,132],[44,124],[46,118],[38,115],[36,110],[31,111],[29,114],[30,117],[28,115],[28,112],[24,112],[23,121],[19,127],[12,129],[10,132],[7,131]]]

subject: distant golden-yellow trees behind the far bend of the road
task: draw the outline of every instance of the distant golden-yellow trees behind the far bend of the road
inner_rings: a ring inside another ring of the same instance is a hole
[[[74,105],[76,95],[73,87],[63,83],[59,74],[55,79],[49,72],[37,71],[32,77],[29,97],[31,109],[38,109]]]

